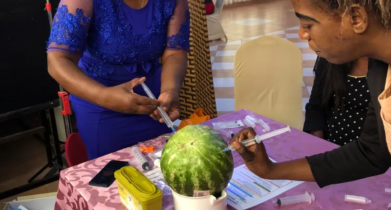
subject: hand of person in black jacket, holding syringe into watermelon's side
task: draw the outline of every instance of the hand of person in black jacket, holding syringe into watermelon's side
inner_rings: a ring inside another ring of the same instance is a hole
[[[243,158],[244,164],[246,164],[250,171],[262,178],[267,178],[268,174],[270,174],[274,168],[274,163],[267,156],[263,143],[261,142],[260,144],[254,144],[249,147],[245,147],[240,143],[241,141],[255,137],[256,135],[257,133],[253,128],[244,128],[231,139],[230,144],[234,146],[236,151]]]

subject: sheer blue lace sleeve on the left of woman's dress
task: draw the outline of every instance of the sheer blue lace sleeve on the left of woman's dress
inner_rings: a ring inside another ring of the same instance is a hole
[[[47,42],[47,52],[81,55],[92,18],[92,0],[61,0]]]

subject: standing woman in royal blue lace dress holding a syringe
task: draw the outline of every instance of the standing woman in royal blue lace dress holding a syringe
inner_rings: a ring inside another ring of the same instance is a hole
[[[61,0],[48,71],[70,92],[89,159],[170,132],[155,105],[179,117],[189,20],[187,0]]]

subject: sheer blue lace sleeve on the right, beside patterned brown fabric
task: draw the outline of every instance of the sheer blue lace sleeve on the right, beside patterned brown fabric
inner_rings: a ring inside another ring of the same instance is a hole
[[[188,0],[176,0],[167,29],[167,49],[190,49],[190,12]]]

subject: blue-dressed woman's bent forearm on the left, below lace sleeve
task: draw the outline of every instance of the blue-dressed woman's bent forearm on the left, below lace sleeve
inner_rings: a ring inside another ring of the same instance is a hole
[[[102,105],[102,94],[104,85],[89,78],[78,66],[79,58],[71,55],[64,55],[62,52],[48,52],[48,72],[61,86],[69,93],[92,102]]]

